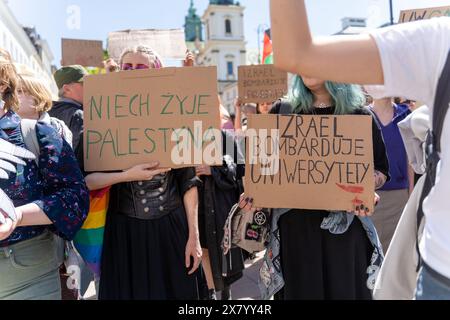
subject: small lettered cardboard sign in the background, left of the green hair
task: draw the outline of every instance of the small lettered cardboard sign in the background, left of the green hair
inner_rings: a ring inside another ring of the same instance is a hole
[[[288,92],[287,73],[272,64],[240,66],[239,98],[243,103],[272,103]]]

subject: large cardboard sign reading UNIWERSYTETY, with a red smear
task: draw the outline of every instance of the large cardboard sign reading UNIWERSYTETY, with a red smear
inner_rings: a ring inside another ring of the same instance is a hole
[[[252,115],[249,128],[245,192],[257,207],[373,212],[370,116]]]

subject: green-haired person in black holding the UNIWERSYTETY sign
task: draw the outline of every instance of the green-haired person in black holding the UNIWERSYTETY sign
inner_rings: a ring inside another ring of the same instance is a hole
[[[358,121],[361,115],[370,115],[364,104],[359,86],[297,76],[289,96],[276,102],[271,113],[354,115]],[[388,178],[389,165],[375,121],[372,129],[378,189]],[[252,203],[248,194],[241,198],[240,206],[253,211]],[[371,299],[370,284],[383,254],[367,215],[365,206],[352,213],[273,209],[270,243],[260,271],[262,297],[268,299],[276,294],[275,298],[282,300]]]

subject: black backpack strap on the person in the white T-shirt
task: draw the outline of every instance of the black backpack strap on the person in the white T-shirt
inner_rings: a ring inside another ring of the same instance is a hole
[[[436,183],[436,169],[440,161],[441,152],[441,135],[444,128],[444,120],[447,114],[447,110],[450,105],[450,52],[447,57],[444,69],[439,79],[436,98],[434,101],[433,109],[433,122],[432,130],[428,132],[426,141],[426,178],[422,189],[422,195],[420,197],[419,208],[417,210],[417,230],[419,230],[420,223],[424,216],[423,214],[423,201],[429,195],[431,189]],[[450,231],[450,230],[449,230]],[[418,249],[418,242],[417,242]],[[420,257],[420,254],[419,254]],[[420,262],[420,259],[419,259]],[[417,267],[420,268],[419,266]]]

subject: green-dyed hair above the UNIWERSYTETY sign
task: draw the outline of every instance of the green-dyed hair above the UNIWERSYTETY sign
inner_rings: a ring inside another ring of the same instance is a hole
[[[326,81],[325,88],[333,98],[334,113],[337,115],[352,113],[353,110],[364,106],[366,102],[360,86]],[[296,113],[311,113],[314,108],[314,96],[298,75],[295,76],[287,99]]]

